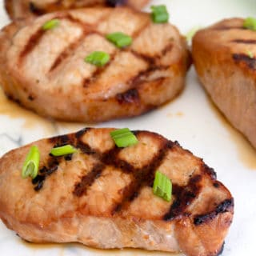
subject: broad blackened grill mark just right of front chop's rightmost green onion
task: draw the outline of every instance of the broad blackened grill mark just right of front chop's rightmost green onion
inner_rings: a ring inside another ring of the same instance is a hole
[[[164,221],[171,221],[174,218],[181,217],[183,214],[188,214],[186,213],[186,208],[190,206],[201,190],[201,180],[201,175],[195,175],[190,178],[186,186],[173,185],[175,200],[170,206],[169,212],[163,216]]]

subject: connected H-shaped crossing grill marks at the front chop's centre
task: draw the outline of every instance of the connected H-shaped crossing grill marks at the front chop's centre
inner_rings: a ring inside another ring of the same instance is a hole
[[[139,133],[138,131],[133,132],[136,135]],[[158,154],[152,158],[150,163],[148,163],[146,166],[143,166],[142,168],[134,168],[134,166],[131,166],[129,162],[118,159],[118,154],[120,150],[122,150],[121,148],[114,146],[114,148],[101,154],[97,150],[92,150],[90,146],[82,142],[82,134],[80,134],[78,137],[76,136],[78,138],[76,146],[80,148],[84,154],[94,154],[94,158],[98,159],[100,166],[95,167],[96,170],[92,170],[90,174],[87,174],[82,178],[81,182],[76,184],[73,191],[74,195],[81,197],[83,194],[85,194],[88,187],[90,187],[94,180],[99,177],[105,166],[114,166],[118,170],[121,170],[123,173],[131,174],[133,177],[133,181],[130,183],[130,185],[123,189],[123,196],[121,201],[112,207],[112,214],[115,214],[122,210],[124,207],[129,206],[129,203],[133,201],[134,198],[138,197],[139,191],[143,186],[153,185],[155,170],[157,170],[158,166],[160,166],[162,160],[165,158],[166,151],[175,145],[170,141],[164,142],[161,149],[158,150]]]

